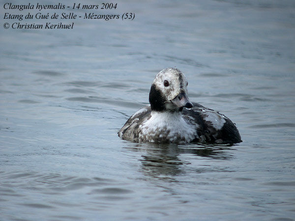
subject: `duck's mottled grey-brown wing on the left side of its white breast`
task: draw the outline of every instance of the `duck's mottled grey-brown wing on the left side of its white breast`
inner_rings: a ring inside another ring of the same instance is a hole
[[[122,139],[137,141],[139,134],[138,127],[142,122],[150,118],[150,112],[150,105],[136,111],[118,132],[118,136]]]

